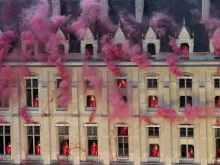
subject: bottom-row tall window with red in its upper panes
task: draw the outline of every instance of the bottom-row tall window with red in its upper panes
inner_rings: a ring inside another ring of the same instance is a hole
[[[118,127],[118,156],[128,156],[128,127]]]

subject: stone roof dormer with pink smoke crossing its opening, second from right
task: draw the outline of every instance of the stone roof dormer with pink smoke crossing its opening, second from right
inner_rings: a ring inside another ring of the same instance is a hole
[[[190,33],[190,30],[186,27],[185,19],[183,19],[183,26],[177,35],[176,44],[178,47],[188,47],[189,53],[193,52],[194,48],[194,39],[193,34]]]

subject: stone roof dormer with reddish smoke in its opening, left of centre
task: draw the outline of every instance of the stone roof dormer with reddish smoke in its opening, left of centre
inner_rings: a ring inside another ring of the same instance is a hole
[[[82,56],[85,55],[85,53],[88,54],[89,58],[95,58],[97,59],[97,50],[98,50],[98,40],[93,35],[93,32],[91,31],[89,24],[86,28],[86,33],[84,38],[81,40],[81,54]]]

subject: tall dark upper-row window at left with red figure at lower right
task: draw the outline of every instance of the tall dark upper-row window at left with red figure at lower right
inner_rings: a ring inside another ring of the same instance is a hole
[[[38,107],[38,79],[26,79],[26,100],[28,107]]]

